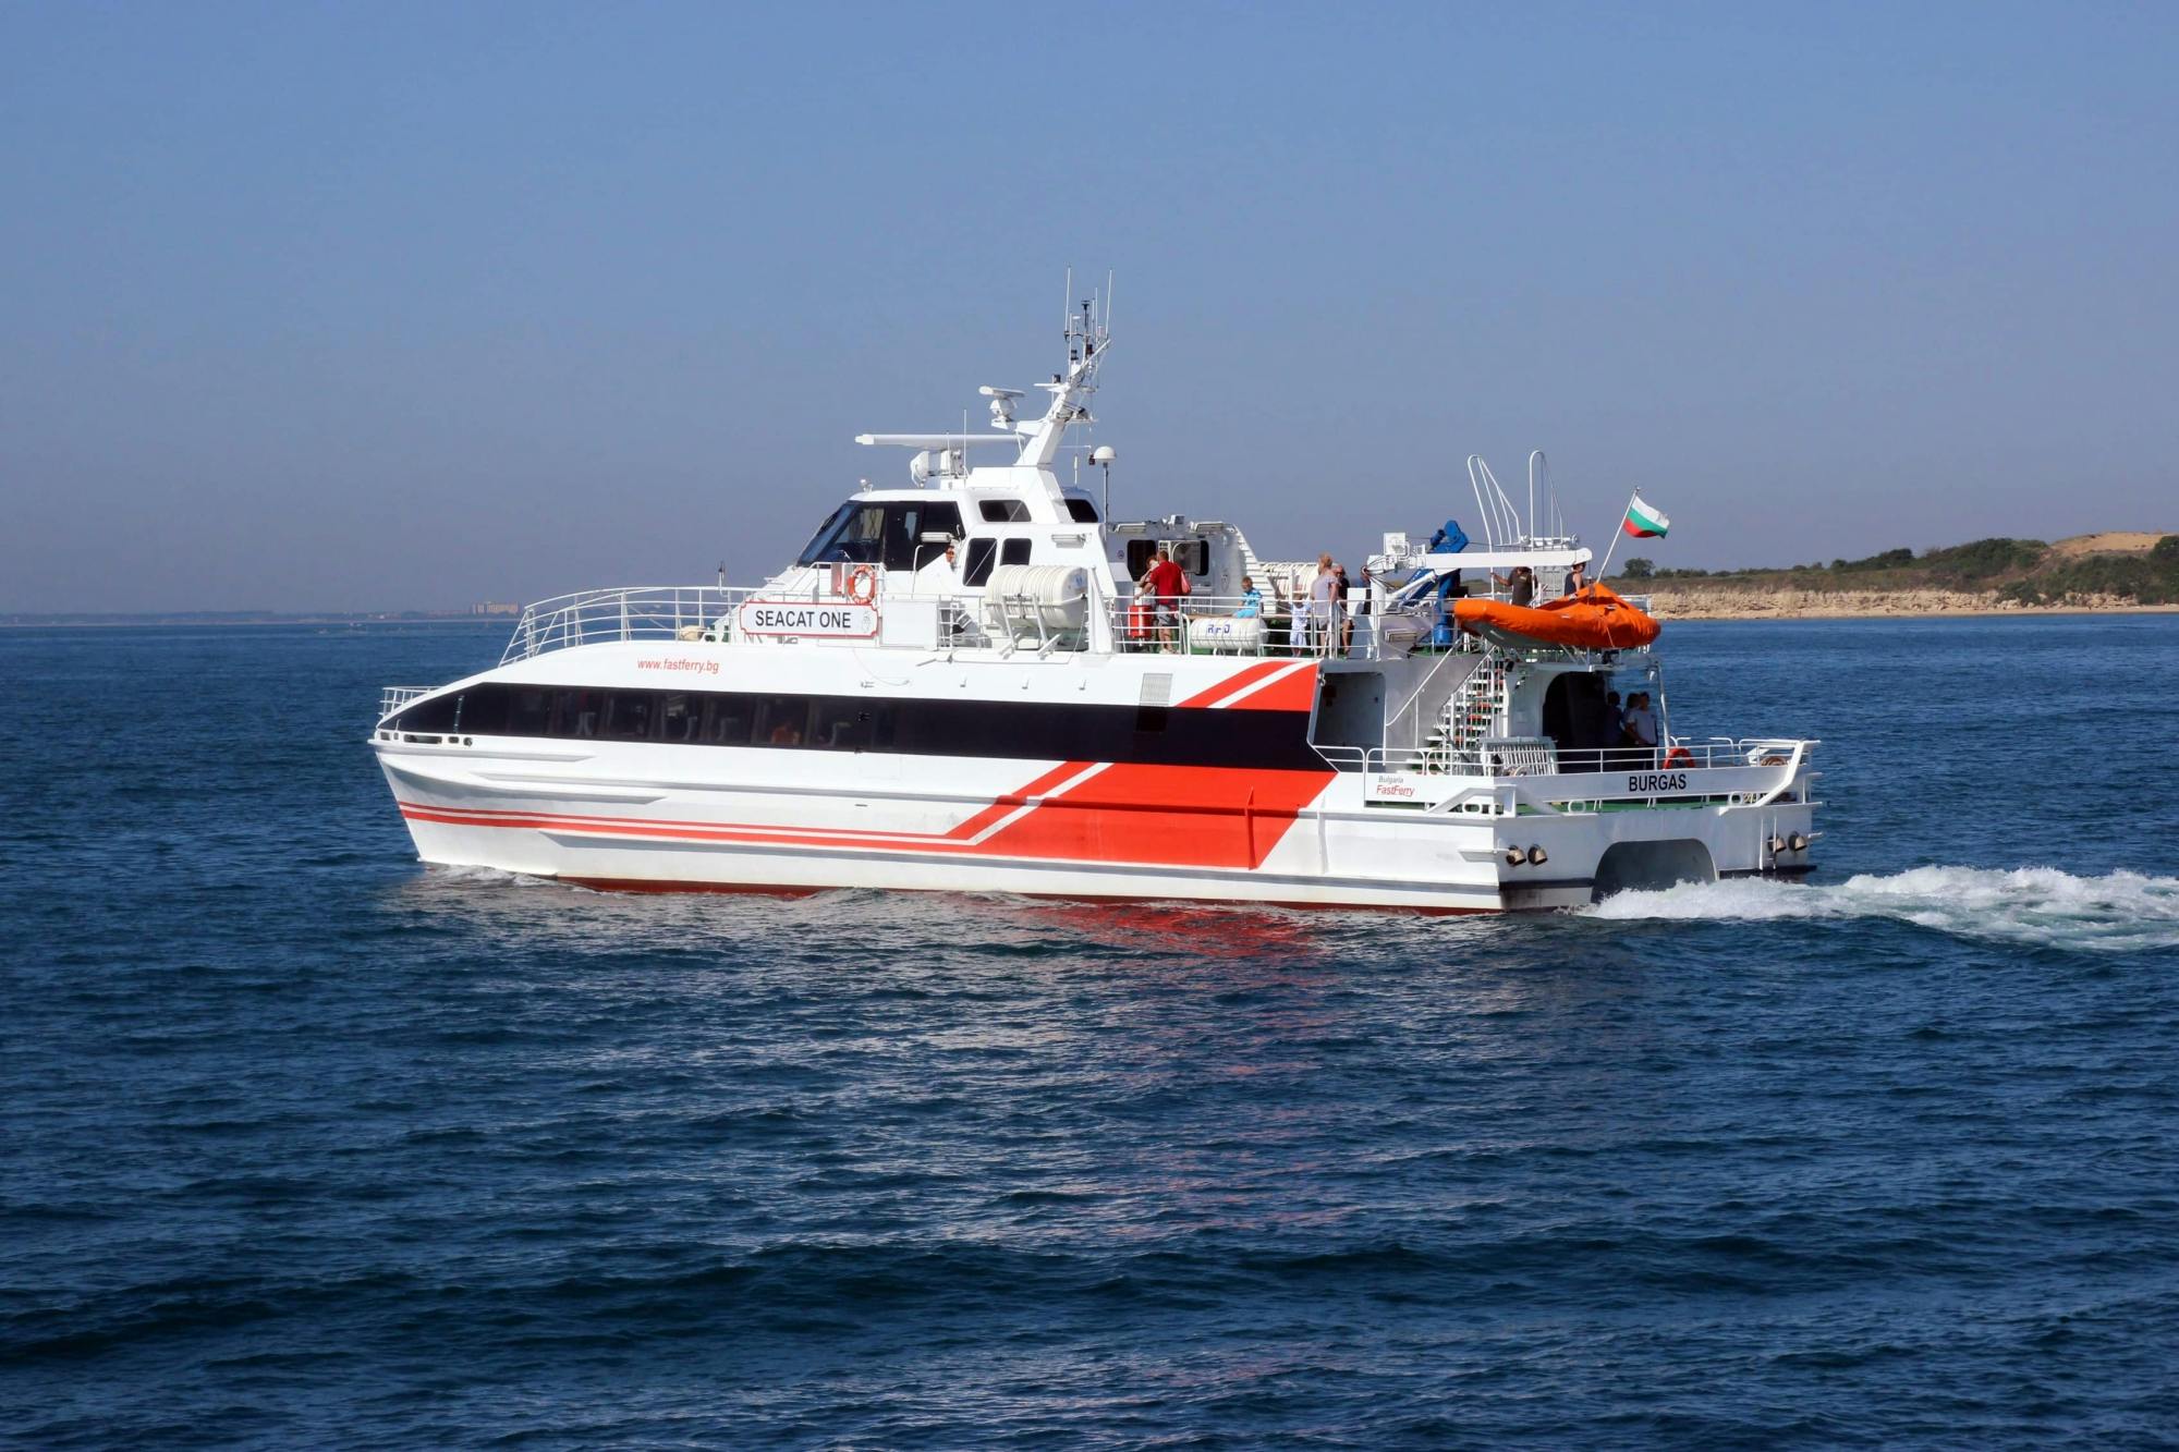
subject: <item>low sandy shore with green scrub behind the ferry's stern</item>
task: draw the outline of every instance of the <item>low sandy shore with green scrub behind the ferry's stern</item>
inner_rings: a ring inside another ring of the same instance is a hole
[[[1865,560],[1791,565],[1785,569],[1658,569],[1626,560],[1623,580],[1702,582],[1726,591],[1972,591],[2024,606],[2118,597],[2133,604],[2179,604],[2179,534],[2148,549],[2070,552],[2040,539],[1979,539],[1946,549],[1885,549]]]

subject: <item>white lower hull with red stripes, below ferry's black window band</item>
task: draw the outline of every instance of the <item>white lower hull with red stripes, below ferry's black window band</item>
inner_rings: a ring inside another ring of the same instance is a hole
[[[652,748],[649,761],[610,761],[608,750],[606,761],[540,770],[484,746],[379,743],[418,857],[599,890],[859,887],[1482,913],[1582,907],[1621,844],[1663,852],[1669,876],[1612,879],[1619,885],[1809,868],[1806,852],[1769,850],[1809,833],[1806,802],[1464,815],[1371,804],[1360,774],[1305,783],[1301,802],[1292,785],[1286,804],[1231,785],[1174,802],[1170,781],[1109,763],[872,757],[845,774],[832,761],[817,785],[795,781],[793,763],[708,761],[719,752],[662,761]],[[551,772],[580,781],[551,787],[540,781]]]

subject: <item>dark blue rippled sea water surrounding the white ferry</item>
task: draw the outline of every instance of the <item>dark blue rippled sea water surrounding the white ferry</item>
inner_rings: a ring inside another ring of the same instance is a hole
[[[1521,920],[423,870],[497,645],[0,634],[0,1437],[2179,1441],[2179,619],[1671,628],[1826,870]]]

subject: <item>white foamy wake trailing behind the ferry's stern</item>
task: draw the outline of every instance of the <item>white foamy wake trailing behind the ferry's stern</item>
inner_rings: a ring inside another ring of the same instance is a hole
[[[2074,876],[2057,868],[1911,868],[1828,885],[1732,879],[1621,892],[1584,911],[1621,922],[1891,918],[2040,948],[2179,948],[2179,879],[2140,872]]]

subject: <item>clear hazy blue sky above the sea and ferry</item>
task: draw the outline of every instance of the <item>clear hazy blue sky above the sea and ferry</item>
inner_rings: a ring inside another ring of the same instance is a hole
[[[2179,528],[2179,7],[0,2],[0,608],[756,580],[1118,273],[1116,512]]]

